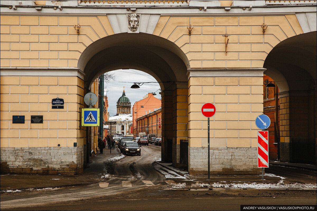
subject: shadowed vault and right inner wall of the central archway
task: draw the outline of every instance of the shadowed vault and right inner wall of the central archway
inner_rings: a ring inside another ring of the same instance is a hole
[[[131,68],[152,75],[162,90],[162,160],[167,160],[167,152],[172,152],[173,164],[179,165],[179,142],[188,140],[186,73],[190,66],[176,44],[146,33],[114,34],[89,45],[81,54],[78,68],[85,73],[86,90],[99,75],[108,71]],[[183,96],[182,100],[176,100],[178,96]],[[185,110],[183,118],[177,118],[178,110]],[[172,141],[171,149],[167,141]]]

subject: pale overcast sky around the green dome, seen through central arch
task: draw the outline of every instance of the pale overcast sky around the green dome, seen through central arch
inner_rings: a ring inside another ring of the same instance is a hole
[[[136,101],[142,100],[142,98],[147,93],[155,92],[157,95],[155,96],[158,99],[161,99],[160,86],[158,83],[149,83],[143,84],[139,89],[131,89],[130,87],[133,83],[136,82],[157,82],[151,75],[139,71],[139,70],[115,70],[110,71],[109,73],[114,73],[114,80],[109,80],[105,83],[105,89],[107,89],[108,96],[108,111],[110,116],[114,116],[117,114],[117,101],[119,97],[122,96],[123,87],[126,93],[126,96],[131,101],[131,112],[132,106]]]

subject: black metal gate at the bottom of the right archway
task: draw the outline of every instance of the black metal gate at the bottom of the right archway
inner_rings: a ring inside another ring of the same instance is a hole
[[[314,139],[292,139],[294,163],[316,164],[316,141]]]

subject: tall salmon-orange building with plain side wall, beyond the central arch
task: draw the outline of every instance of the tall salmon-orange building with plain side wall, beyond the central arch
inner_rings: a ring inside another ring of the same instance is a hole
[[[151,113],[151,111],[157,110],[161,108],[161,100],[153,96],[153,93],[148,93],[146,96],[143,97],[142,100],[139,100],[134,103],[132,107],[132,131],[134,137],[136,137],[139,132],[137,127],[138,125],[136,124],[136,120],[139,119],[140,117],[147,115]],[[131,131],[131,132],[132,132]],[[146,132],[146,131],[140,131],[140,132]],[[148,133],[146,133],[148,134]]]

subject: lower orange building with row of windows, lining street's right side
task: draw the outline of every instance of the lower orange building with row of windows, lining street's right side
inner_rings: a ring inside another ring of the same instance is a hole
[[[141,116],[133,123],[136,125],[133,133],[135,137],[140,132],[156,134],[157,138],[162,137],[162,109],[157,109],[147,115]]]

